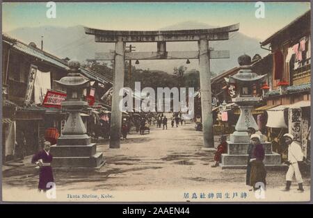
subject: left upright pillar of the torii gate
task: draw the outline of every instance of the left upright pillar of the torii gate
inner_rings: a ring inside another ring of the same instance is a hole
[[[114,82],[111,106],[110,149],[120,148],[120,128],[122,124],[122,110],[120,110],[120,90],[124,86],[125,43],[122,40],[115,42]]]

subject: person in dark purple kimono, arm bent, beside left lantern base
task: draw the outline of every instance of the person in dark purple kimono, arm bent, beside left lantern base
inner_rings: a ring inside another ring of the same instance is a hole
[[[50,142],[44,142],[44,148],[42,151],[36,153],[31,159],[31,162],[35,163],[40,168],[38,190],[43,190],[44,192],[52,187],[52,185],[49,185],[48,183],[54,182],[51,168],[52,156],[50,153],[50,146]]]

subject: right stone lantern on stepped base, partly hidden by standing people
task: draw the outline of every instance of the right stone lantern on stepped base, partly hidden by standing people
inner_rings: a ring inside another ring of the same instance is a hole
[[[254,90],[258,90],[264,81],[266,75],[257,75],[251,70],[250,56],[243,55],[238,58],[240,65],[239,72],[230,76],[227,80],[229,84],[234,85],[236,96],[232,97],[232,102],[236,103],[240,109],[240,116],[236,123],[235,131],[230,135],[228,142],[227,153],[222,155],[222,167],[246,167],[247,165],[247,150],[250,144],[248,128],[255,128],[261,136],[261,143],[264,146],[266,153],[266,165],[280,165],[280,155],[272,152],[270,142],[264,142],[264,135],[258,130],[257,123],[252,116],[252,109],[262,97],[257,96]]]

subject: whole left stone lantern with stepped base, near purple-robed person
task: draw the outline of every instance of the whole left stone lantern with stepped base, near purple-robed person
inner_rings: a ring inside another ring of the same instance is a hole
[[[91,143],[80,112],[88,103],[83,98],[83,90],[89,86],[89,80],[79,73],[79,62],[71,60],[67,76],[56,81],[66,88],[66,100],[61,102],[63,110],[68,112],[61,136],[57,144],[51,146],[54,167],[98,167],[102,165],[102,153],[97,153],[97,145]]]

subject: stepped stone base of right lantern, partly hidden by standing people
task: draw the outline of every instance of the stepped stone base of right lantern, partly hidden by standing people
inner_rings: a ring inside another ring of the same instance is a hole
[[[234,143],[228,141],[227,153],[222,154],[222,169],[227,168],[246,168],[248,159],[249,143]],[[266,167],[281,167],[280,154],[272,151],[270,142],[262,142],[265,151],[264,165]]]

